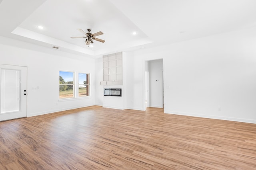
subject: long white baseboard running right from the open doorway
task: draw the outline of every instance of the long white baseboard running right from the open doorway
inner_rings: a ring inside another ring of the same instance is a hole
[[[256,124],[256,120],[254,120],[254,119],[241,119],[241,118],[236,118],[236,117],[224,117],[224,116],[216,116],[216,115],[202,115],[202,114],[196,114],[196,113],[185,113],[185,112],[176,112],[176,111],[164,111],[164,113],[174,114],[174,115],[203,117],[203,118],[209,118],[209,119],[239,121],[239,122],[244,122],[244,123],[254,123],[254,124]]]

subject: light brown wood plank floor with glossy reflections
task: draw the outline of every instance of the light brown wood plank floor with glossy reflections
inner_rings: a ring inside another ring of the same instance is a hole
[[[0,170],[255,170],[256,124],[84,107],[0,122]]]

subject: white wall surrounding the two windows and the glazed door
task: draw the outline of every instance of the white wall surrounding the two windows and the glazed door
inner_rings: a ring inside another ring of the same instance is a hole
[[[94,59],[0,37],[0,64],[27,66],[28,116],[92,106],[95,103]],[[59,70],[90,73],[91,96],[60,102]],[[40,89],[32,90],[32,87],[37,86]]]

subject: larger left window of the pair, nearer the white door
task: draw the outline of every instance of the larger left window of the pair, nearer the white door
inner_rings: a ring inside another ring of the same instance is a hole
[[[60,71],[59,98],[74,98],[74,72]]]

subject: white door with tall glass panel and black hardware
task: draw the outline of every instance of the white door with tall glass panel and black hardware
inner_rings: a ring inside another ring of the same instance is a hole
[[[27,68],[0,64],[0,121],[27,117]]]

